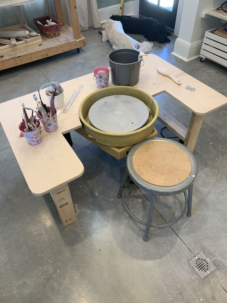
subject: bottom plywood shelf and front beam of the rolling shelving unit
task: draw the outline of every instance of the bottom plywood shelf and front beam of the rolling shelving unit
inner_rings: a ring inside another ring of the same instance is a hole
[[[86,45],[85,37],[81,36],[81,39],[77,40],[73,38],[72,27],[68,25],[61,27],[61,34],[58,37],[49,39],[43,34],[41,34],[41,36],[43,40],[42,45],[20,53],[0,57],[0,70],[50,57]]]

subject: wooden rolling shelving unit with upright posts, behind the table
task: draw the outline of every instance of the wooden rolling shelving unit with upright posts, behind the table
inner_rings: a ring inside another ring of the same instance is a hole
[[[33,0],[5,0],[0,4],[0,7],[18,5],[30,1]],[[13,55],[0,57],[0,70],[64,53],[72,49],[77,49],[77,51],[80,52],[80,48],[86,45],[86,39],[80,32],[76,0],[68,0],[72,27],[65,25],[61,1],[53,1],[56,17],[62,23],[60,36],[49,39],[41,34],[43,40],[42,45]]]

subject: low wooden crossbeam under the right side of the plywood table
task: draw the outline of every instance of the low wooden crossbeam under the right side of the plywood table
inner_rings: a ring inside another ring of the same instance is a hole
[[[175,133],[181,140],[185,140],[188,128],[179,121],[170,116],[162,108],[159,107],[158,120],[165,125],[171,132]]]

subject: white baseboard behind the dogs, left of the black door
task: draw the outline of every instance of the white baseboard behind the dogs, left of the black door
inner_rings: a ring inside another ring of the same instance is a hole
[[[110,16],[118,15],[120,10],[120,4],[111,5],[98,9],[99,20],[101,23],[105,23]],[[135,7],[134,1],[128,1],[124,4],[124,15],[134,15]]]

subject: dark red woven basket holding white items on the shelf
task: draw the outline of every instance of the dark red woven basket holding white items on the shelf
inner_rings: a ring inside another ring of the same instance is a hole
[[[47,20],[50,20],[50,19],[52,19],[51,20],[52,22],[55,22],[57,24],[44,26],[44,24],[47,24]],[[39,24],[37,21],[41,22],[43,25]],[[58,21],[57,19],[55,19],[49,15],[46,15],[43,17],[33,19],[33,22],[38,27],[39,31],[47,38],[54,38],[54,37],[60,36],[61,22]]]

